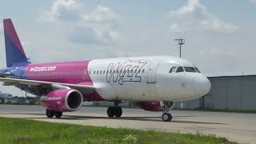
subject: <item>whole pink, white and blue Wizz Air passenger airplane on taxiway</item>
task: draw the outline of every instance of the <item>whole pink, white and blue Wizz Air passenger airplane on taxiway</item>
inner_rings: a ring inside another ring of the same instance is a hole
[[[113,102],[106,113],[118,118],[119,104],[133,102],[143,110],[162,111],[162,121],[170,122],[174,102],[210,91],[210,81],[198,67],[170,56],[34,64],[26,57],[11,19],[4,19],[3,26],[6,68],[0,70],[0,82],[38,96],[47,118],[61,118],[63,112],[78,110],[82,102]]]

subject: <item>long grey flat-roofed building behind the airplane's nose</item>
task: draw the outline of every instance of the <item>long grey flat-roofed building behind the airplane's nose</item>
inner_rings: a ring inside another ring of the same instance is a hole
[[[175,108],[256,110],[256,75],[209,77],[211,90],[202,98],[177,102]]]

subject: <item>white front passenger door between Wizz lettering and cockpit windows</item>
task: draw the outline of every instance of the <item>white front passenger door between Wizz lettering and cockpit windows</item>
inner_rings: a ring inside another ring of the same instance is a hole
[[[147,83],[155,83],[156,82],[156,73],[158,70],[159,62],[151,62],[148,73],[147,73]]]

